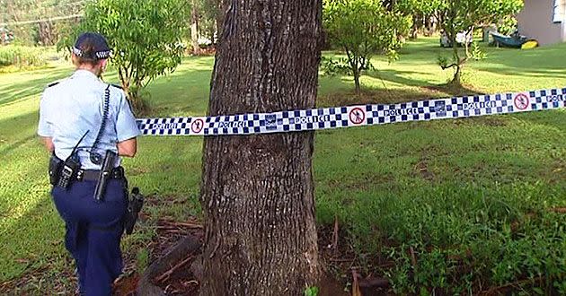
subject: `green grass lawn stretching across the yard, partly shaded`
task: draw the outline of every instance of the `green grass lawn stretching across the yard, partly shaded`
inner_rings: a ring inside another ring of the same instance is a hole
[[[378,71],[362,77],[360,97],[351,77],[322,77],[318,105],[452,95],[438,87],[451,73],[436,65],[439,54],[450,54],[437,44],[411,41],[394,64],[375,58]],[[464,92],[566,87],[566,44],[486,51],[467,65]],[[213,63],[187,57],[150,85],[152,116],[204,115]],[[23,279],[11,293],[74,287],[60,275],[73,267],[49,197],[49,155],[35,135],[40,92],[71,72],[59,63],[0,74],[0,283]],[[137,157],[125,161],[130,184],[150,204],[148,220],[124,241],[138,268],[158,217],[200,214],[201,149],[200,137],[142,137]],[[317,220],[323,226],[338,217],[364,272],[390,277],[398,293],[479,292],[517,281],[519,292],[566,293],[566,214],[551,211],[566,207],[565,160],[565,109],[321,131]],[[394,267],[376,266],[386,261]]]

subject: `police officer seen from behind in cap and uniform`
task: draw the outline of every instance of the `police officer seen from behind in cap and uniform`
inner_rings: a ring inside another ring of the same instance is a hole
[[[119,157],[102,198],[93,197],[102,158],[107,151],[133,157],[140,134],[124,91],[101,80],[110,56],[101,34],[81,34],[72,53],[75,73],[49,85],[40,102],[38,135],[54,153],[52,159],[78,164],[68,165],[75,171],[66,175],[66,187],[56,176],[59,183],[55,180],[51,195],[66,224],[65,245],[75,258],[79,293],[89,296],[111,295],[111,284],[121,273],[119,242],[128,206]]]

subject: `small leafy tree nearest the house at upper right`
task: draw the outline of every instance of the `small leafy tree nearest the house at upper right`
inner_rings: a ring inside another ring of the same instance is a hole
[[[442,69],[454,68],[451,84],[462,84],[462,69],[473,55],[464,42],[465,52],[461,55],[456,42],[456,34],[465,32],[473,34],[475,28],[500,22],[517,14],[523,8],[523,0],[425,0],[434,8],[440,27],[446,32],[452,44],[452,60],[441,58]]]

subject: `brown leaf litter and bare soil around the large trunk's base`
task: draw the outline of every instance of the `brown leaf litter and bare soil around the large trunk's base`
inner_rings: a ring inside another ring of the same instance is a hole
[[[176,222],[164,218],[157,222],[157,237],[150,244],[151,254],[157,257],[164,256],[168,249],[172,248],[184,236],[191,235],[199,238],[202,242],[204,230],[202,224],[196,219],[186,222]],[[386,279],[374,276],[361,276],[356,265],[358,258],[353,248],[349,246],[344,235],[341,235],[338,225],[334,227],[323,227],[319,229],[319,252],[323,266],[324,276],[320,283],[321,296],[351,295],[354,289],[358,295],[387,295],[389,282]],[[159,286],[167,295],[193,296],[199,294],[199,280],[190,271],[190,266],[199,253],[188,254],[186,258],[172,266],[172,269],[164,274],[158,275],[152,281]],[[133,263],[132,263],[133,264]],[[128,273],[128,269],[130,272]],[[127,276],[123,276],[115,284],[114,295],[136,295],[137,282],[140,275],[131,272],[133,268],[126,268]],[[344,288],[348,286],[348,290]]]

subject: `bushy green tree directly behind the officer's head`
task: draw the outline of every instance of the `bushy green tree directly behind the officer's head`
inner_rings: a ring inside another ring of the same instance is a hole
[[[62,41],[70,48],[76,36],[93,30],[107,37],[111,62],[134,109],[143,111],[140,91],[155,77],[181,64],[190,5],[176,0],[99,0],[84,8],[84,19]]]

